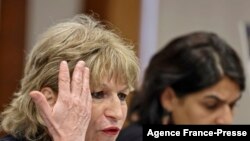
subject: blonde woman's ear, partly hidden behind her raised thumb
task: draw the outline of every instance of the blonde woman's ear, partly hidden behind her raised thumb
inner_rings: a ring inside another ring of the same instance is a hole
[[[57,94],[50,87],[42,88],[41,93],[43,93],[49,105],[53,107],[57,100]]]

